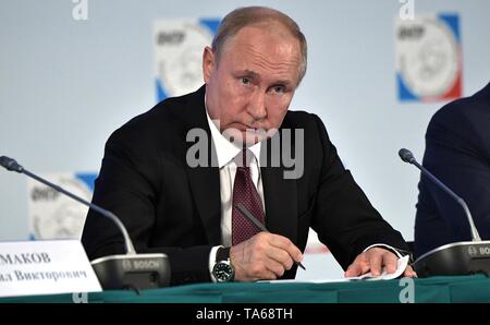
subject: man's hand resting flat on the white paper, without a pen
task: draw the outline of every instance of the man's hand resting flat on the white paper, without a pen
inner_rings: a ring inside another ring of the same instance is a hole
[[[391,251],[383,248],[372,248],[357,255],[356,260],[347,267],[346,277],[355,277],[371,272],[373,276],[380,276],[381,270],[385,268],[388,274],[396,270],[399,257]],[[417,277],[417,274],[407,266],[403,273],[404,277]]]

